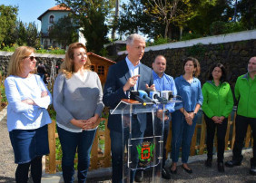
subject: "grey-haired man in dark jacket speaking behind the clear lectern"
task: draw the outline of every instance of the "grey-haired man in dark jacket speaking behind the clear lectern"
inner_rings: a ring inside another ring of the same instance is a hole
[[[112,65],[109,69],[107,81],[103,90],[103,103],[113,110],[122,99],[128,99],[130,91],[145,90],[149,86],[154,89],[152,70],[140,62],[143,58],[145,40],[139,34],[132,34],[127,38],[125,60]],[[146,129],[146,114],[133,116],[134,138],[143,138]],[[113,183],[123,181],[123,141],[128,140],[129,131],[122,128],[120,114],[109,114],[108,128],[111,137]],[[123,140],[124,139],[124,140]],[[136,149],[132,149],[133,151]],[[138,159],[134,159],[138,161]],[[133,182],[134,171],[131,173]]]

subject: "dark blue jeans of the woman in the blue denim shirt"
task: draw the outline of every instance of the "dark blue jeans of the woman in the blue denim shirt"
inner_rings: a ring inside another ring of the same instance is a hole
[[[195,116],[192,120],[192,126],[190,126],[187,124],[181,111],[174,111],[172,113],[172,162],[178,162],[181,145],[182,163],[188,162],[196,119]]]

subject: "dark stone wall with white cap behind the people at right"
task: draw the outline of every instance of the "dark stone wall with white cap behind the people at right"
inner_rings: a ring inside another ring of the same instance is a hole
[[[144,53],[142,63],[152,66],[153,59],[162,54],[167,59],[166,73],[173,78],[183,73],[182,60],[188,56],[197,58],[201,64],[199,79],[202,84],[207,80],[209,69],[214,63],[222,63],[227,69],[227,79],[233,89],[236,79],[247,72],[247,64],[252,56],[256,56],[256,39],[218,44],[195,44],[191,47],[148,51]],[[115,62],[123,60],[120,55]]]

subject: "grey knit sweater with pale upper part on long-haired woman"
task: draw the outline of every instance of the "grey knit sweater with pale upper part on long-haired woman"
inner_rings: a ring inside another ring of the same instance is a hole
[[[63,126],[78,130],[70,120],[87,120],[103,111],[103,90],[96,72],[87,72],[84,82],[73,74],[66,79],[60,73],[54,83],[56,120]]]

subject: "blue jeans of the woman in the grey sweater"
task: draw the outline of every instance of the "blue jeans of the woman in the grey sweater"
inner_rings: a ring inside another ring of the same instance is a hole
[[[65,183],[74,182],[74,155],[78,154],[78,182],[85,182],[96,130],[74,133],[57,127],[63,150],[62,169]]]

